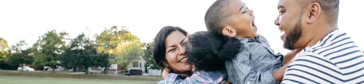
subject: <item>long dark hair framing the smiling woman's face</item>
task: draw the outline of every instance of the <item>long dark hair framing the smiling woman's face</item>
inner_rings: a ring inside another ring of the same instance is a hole
[[[158,68],[163,70],[165,69],[165,66],[163,65],[163,61],[166,61],[166,45],[165,41],[169,34],[171,34],[174,31],[179,31],[183,33],[184,35],[188,35],[185,30],[182,28],[179,28],[177,26],[165,26],[161,30],[159,30],[157,36],[154,38],[153,42],[153,57],[155,63],[158,64]],[[168,62],[167,62],[168,63]]]

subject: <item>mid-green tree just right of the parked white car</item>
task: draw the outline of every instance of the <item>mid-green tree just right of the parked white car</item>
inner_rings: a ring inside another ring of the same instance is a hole
[[[39,39],[33,44],[32,53],[35,56],[34,66],[50,66],[55,68],[59,65],[59,59],[61,54],[67,48],[66,41],[68,33],[60,32],[56,30],[47,32],[39,37]]]

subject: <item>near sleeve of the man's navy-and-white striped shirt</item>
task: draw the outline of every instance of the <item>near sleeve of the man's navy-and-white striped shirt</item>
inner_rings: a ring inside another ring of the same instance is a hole
[[[342,83],[343,75],[330,59],[322,55],[304,52],[288,66],[282,83]]]

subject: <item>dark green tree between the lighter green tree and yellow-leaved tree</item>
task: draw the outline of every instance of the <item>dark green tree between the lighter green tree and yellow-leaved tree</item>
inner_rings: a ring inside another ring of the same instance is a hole
[[[63,53],[62,64],[68,68],[83,67],[88,74],[89,67],[99,67],[98,57],[93,41],[85,34],[80,34],[72,39],[70,47]]]

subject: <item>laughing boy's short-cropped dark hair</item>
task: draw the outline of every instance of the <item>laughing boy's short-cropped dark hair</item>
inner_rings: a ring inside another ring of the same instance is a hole
[[[205,14],[207,31],[222,33],[222,29],[229,24],[230,10],[227,9],[229,5],[230,0],[217,0],[207,9]]]

